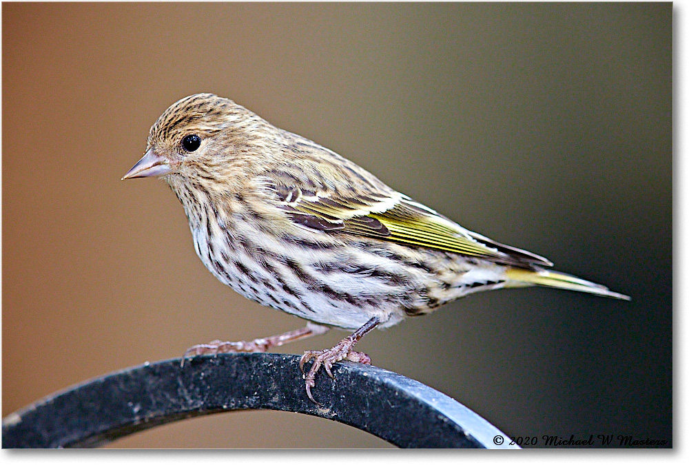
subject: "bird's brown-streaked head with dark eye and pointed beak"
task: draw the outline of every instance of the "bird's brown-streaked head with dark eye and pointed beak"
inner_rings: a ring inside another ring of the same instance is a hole
[[[267,123],[214,94],[194,94],[172,104],[151,127],[145,155],[123,179],[161,177],[168,183],[232,178],[251,158]]]

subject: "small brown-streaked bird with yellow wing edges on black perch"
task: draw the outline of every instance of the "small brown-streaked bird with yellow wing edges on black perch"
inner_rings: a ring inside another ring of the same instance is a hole
[[[123,177],[160,177],[181,201],[196,254],[220,281],[305,328],[185,353],[263,352],[339,327],[335,347],[307,351],[306,391],[320,368],[369,364],[354,344],[375,327],[429,313],[471,293],[546,286],[628,300],[548,271],[549,260],[464,229],[362,167],[271,125],[229,99],[195,94],[151,127],[145,155]],[[183,358],[183,360],[185,359]]]

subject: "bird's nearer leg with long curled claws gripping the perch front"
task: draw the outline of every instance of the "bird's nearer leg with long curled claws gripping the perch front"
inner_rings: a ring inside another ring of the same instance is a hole
[[[311,369],[309,369],[309,373],[305,373],[304,375],[304,379],[306,380],[306,393],[313,403],[318,404],[318,402],[313,399],[313,395],[311,395],[311,388],[316,386],[316,373],[318,373],[321,366],[325,368],[326,373],[334,380],[335,377],[330,369],[335,362],[347,360],[349,362],[358,362],[366,365],[371,364],[371,358],[368,355],[351,349],[354,347],[354,344],[364,337],[364,334],[378,326],[378,323],[380,323],[380,320],[378,320],[378,317],[374,316],[371,320],[367,321],[364,326],[335,344],[332,349],[326,349],[325,351],[306,351],[304,355],[302,355],[301,360],[299,360],[299,369],[302,373],[304,373],[304,364],[313,359],[313,364],[311,365]]]

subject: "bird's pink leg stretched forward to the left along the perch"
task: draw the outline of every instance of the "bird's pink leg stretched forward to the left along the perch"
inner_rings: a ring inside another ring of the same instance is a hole
[[[328,327],[320,326],[320,324],[313,324],[309,322],[306,327],[295,329],[294,331],[287,331],[269,338],[258,338],[252,341],[220,341],[214,340],[208,344],[196,344],[189,347],[182,355],[181,366],[184,367],[184,362],[188,357],[194,355],[216,354],[216,353],[236,353],[236,352],[265,352],[271,347],[279,347],[287,342],[296,341],[298,339],[311,338],[311,336],[327,333]]]

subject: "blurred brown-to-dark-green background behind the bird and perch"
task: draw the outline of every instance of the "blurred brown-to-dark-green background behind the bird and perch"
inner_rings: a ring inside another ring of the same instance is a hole
[[[2,41],[3,416],[192,344],[302,326],[203,267],[164,183],[120,180],[168,105],[214,92],[633,298],[471,296],[368,335],[373,364],[508,435],[672,444],[671,3],[4,3]],[[270,411],[111,444],[388,446]]]

